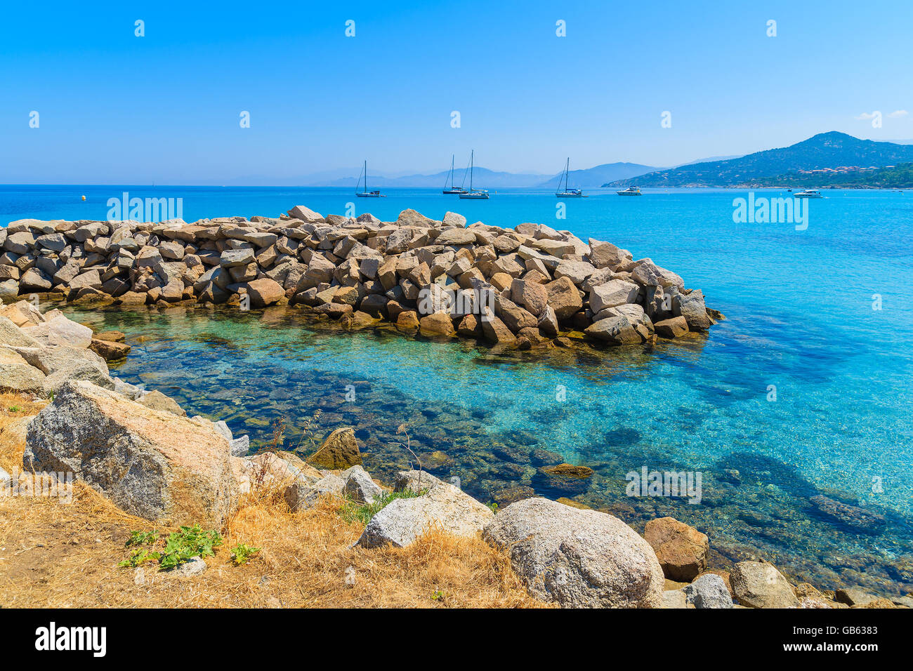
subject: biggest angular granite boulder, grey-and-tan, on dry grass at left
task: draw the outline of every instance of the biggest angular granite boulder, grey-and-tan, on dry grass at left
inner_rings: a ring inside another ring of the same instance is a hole
[[[85,382],[64,384],[32,420],[23,465],[71,472],[126,512],[171,526],[219,528],[236,495],[228,441],[211,426]]]

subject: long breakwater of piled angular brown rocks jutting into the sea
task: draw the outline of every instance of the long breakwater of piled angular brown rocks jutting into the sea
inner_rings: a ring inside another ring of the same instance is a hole
[[[193,224],[25,219],[0,229],[0,247],[7,299],[289,302],[352,328],[385,320],[521,349],[569,334],[613,345],[678,338],[722,319],[700,289],[612,243],[540,224],[467,225],[450,212],[383,222],[298,205],[278,218]]]

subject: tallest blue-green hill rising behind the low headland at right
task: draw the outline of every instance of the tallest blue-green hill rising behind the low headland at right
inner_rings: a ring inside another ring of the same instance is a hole
[[[846,133],[830,131],[789,147],[726,161],[682,165],[603,183],[603,186],[735,186],[779,179],[781,175],[799,170],[884,167],[909,162],[913,162],[913,145],[860,140]]]

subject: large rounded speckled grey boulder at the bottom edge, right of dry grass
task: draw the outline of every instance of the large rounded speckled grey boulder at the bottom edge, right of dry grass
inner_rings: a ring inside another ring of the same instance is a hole
[[[620,519],[546,498],[504,508],[484,536],[510,552],[534,597],[576,608],[659,608],[663,571]]]

